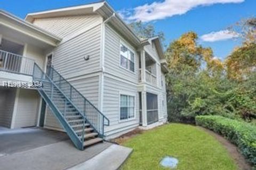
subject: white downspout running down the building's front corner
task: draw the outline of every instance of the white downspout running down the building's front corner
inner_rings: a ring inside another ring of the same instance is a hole
[[[112,18],[116,16],[115,13],[113,13],[109,18],[107,18],[105,21],[102,22],[101,24],[101,62],[100,62],[100,67],[101,67],[101,74],[99,76],[100,78],[100,86],[99,86],[99,110],[102,112],[103,111],[103,90],[104,90],[104,72],[105,72],[105,32],[106,32],[106,23],[109,22]]]

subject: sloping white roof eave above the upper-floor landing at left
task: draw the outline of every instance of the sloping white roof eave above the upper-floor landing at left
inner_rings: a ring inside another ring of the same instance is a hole
[[[35,25],[29,22],[26,22],[6,11],[0,10],[0,18],[2,19],[0,24],[5,25],[6,27],[9,27],[9,28],[11,27],[12,29],[20,31],[24,34],[26,34],[24,29],[26,31],[33,32],[33,35],[32,34],[28,34],[28,35],[33,36],[33,38],[43,40],[45,41],[45,43],[48,43],[50,45],[56,46],[61,41],[61,38],[53,35],[52,33],[47,32],[41,28],[38,28]],[[42,37],[44,38],[42,39]]]

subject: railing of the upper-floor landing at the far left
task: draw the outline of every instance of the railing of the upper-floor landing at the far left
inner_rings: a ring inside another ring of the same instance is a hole
[[[0,50],[0,70],[32,75],[34,63],[30,58]]]

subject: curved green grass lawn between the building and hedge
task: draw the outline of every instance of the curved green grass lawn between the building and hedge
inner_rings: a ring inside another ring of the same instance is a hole
[[[202,129],[184,124],[167,124],[133,137],[123,146],[133,148],[123,169],[166,169],[159,165],[165,156],[179,159],[176,169],[237,169],[227,150]]]

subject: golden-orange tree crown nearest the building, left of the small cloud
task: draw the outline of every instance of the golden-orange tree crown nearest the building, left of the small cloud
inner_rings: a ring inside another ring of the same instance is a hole
[[[172,71],[180,72],[183,69],[191,69],[196,72],[201,69],[203,62],[212,73],[223,70],[221,61],[213,58],[212,49],[198,45],[197,39],[198,36],[195,32],[188,32],[169,45],[165,58]]]

